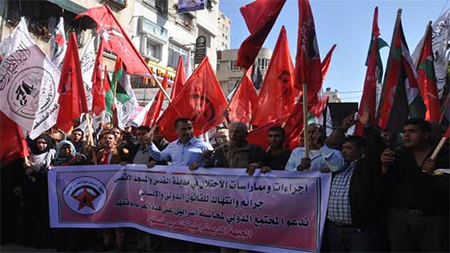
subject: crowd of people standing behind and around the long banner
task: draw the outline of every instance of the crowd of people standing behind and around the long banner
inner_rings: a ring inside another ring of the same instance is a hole
[[[240,122],[217,127],[212,145],[193,136],[187,118],[174,122],[178,139],[170,143],[147,126],[102,129],[96,147],[87,144],[80,128],[67,138],[51,129],[27,139],[29,159],[1,170],[1,243],[59,251],[233,251],[129,228],[50,228],[47,172],[52,166],[134,163],[150,170],[155,165],[245,168],[249,176],[257,169],[332,173],[321,251],[448,252],[449,175],[436,173],[449,168],[448,144],[430,158],[443,131],[435,123],[409,119],[401,135],[386,133],[369,125],[368,111],[358,119],[364,137],[346,135],[355,123],[351,115],[328,137],[322,125],[306,126],[307,140],[301,138],[292,152],[281,126],[268,130],[270,147],[264,150],[247,142],[248,127]]]

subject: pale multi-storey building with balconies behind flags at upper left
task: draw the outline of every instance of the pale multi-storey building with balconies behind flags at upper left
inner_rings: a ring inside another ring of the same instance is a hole
[[[198,36],[205,36],[206,55],[213,69],[216,68],[219,0],[204,2],[203,10],[179,13],[178,0],[5,0],[0,3],[0,42],[12,33],[22,14],[29,22],[32,38],[50,55],[51,34],[59,17],[63,16],[66,34],[71,31],[77,34],[81,55],[84,46],[96,36],[96,24],[88,18],[74,18],[89,8],[106,4],[160,81],[168,71],[170,87],[180,56],[187,76],[195,68]],[[104,64],[109,71],[114,69],[115,59],[112,52],[104,53]],[[139,76],[132,76],[132,85],[142,104],[157,92],[157,89],[152,89],[156,87],[154,82]],[[170,88],[168,92],[170,94]]]

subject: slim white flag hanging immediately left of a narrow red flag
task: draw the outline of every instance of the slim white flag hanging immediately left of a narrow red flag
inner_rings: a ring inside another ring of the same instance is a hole
[[[87,44],[83,56],[81,57],[81,74],[83,75],[84,93],[89,110],[92,108],[92,74],[95,64],[95,37],[92,37]]]

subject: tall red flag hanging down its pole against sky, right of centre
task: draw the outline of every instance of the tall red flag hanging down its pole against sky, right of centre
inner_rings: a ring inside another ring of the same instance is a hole
[[[295,57],[295,87],[303,91],[308,85],[308,104],[317,99],[322,87],[322,66],[317,44],[314,17],[309,0],[299,0],[297,55]]]

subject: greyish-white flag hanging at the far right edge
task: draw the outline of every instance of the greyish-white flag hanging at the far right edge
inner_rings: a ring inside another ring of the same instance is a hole
[[[436,72],[436,86],[439,91],[439,97],[442,97],[444,92],[444,85],[447,76],[447,64],[449,61],[449,35],[450,35],[450,9],[442,14],[431,26],[431,40],[434,53],[434,71]],[[420,40],[412,59],[414,62],[420,56],[420,49],[422,48],[423,38]]]

